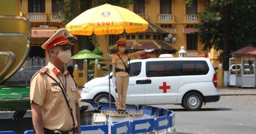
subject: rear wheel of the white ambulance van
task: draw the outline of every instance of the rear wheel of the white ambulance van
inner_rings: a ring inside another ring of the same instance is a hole
[[[197,111],[202,107],[202,96],[196,92],[190,92],[185,95],[182,105],[189,111]]]

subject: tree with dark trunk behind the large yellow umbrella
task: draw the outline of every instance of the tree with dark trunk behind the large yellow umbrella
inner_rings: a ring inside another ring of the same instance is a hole
[[[63,24],[66,25],[72,21],[76,16],[82,12],[105,3],[111,5],[117,5],[120,7],[127,8],[130,4],[133,4],[134,0],[57,0],[57,3],[61,7],[61,15],[63,17]],[[90,50],[93,51],[95,46],[92,42],[91,36],[77,35],[78,39],[78,50]],[[79,69],[83,68],[83,60],[77,60]]]

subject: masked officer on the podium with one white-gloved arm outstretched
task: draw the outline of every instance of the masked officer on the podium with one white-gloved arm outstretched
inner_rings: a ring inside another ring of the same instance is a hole
[[[128,58],[140,55],[145,52],[152,52],[154,49],[145,49],[142,51],[137,51],[135,53],[125,53],[126,39],[121,38],[116,41],[118,45],[118,53],[115,53],[112,57],[112,82],[116,83],[116,89],[118,96],[116,97],[116,108],[118,113],[126,112],[126,93],[129,83],[129,66]]]

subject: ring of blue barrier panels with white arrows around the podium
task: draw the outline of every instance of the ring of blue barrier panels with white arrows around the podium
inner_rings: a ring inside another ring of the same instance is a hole
[[[98,107],[96,102],[89,102],[93,108]],[[100,102],[102,104],[100,110],[109,110],[109,103]],[[111,103],[111,109],[116,109],[115,103]],[[154,129],[159,131],[163,129],[168,129],[168,127],[173,127],[175,124],[175,112],[165,109],[145,105],[126,105],[128,110],[143,110],[144,114],[153,115],[156,118],[130,120],[126,122],[112,122],[111,124],[111,134],[129,134],[129,133],[141,133],[141,132],[151,132]],[[81,126],[82,133],[92,133],[100,134],[109,132],[108,121],[106,125],[84,125]],[[2,131],[0,134],[16,134],[14,131]],[[34,134],[33,131],[25,131],[24,134]]]

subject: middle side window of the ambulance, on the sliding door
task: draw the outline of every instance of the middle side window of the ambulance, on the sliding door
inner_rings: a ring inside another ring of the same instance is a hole
[[[177,61],[146,62],[147,77],[178,76]]]

